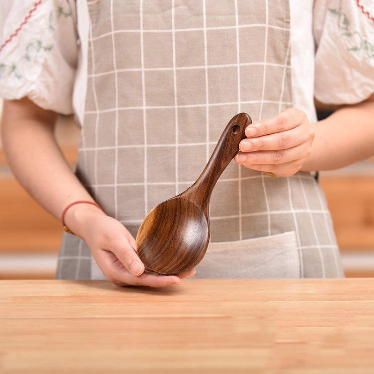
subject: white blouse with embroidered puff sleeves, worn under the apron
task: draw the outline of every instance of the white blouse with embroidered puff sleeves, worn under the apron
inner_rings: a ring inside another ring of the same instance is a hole
[[[89,21],[85,0],[2,0],[0,97],[28,96],[81,121]],[[354,104],[374,92],[374,1],[290,0],[293,106]]]

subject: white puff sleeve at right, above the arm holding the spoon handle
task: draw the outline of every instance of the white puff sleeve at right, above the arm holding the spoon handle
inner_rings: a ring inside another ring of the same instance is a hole
[[[374,93],[374,2],[316,0],[315,97],[355,104]]]

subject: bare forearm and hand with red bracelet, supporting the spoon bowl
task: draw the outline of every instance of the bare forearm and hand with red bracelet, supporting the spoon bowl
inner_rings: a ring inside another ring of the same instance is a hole
[[[44,110],[28,98],[4,100],[2,146],[14,175],[28,193],[56,218],[71,201],[90,200],[54,135],[57,113]],[[22,150],[22,152],[20,152]],[[145,271],[135,240],[117,220],[91,204],[71,206],[65,214],[69,229],[85,240],[104,275],[116,285],[169,287],[194,274]]]

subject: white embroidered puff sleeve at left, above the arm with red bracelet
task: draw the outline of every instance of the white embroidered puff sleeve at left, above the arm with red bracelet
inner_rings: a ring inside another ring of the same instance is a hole
[[[38,106],[71,114],[78,37],[75,2],[1,2],[0,97],[27,96]]]

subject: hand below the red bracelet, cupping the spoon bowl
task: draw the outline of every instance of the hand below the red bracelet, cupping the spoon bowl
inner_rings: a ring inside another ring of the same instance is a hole
[[[105,277],[117,286],[169,287],[195,274],[178,275],[145,270],[135,250],[135,239],[125,226],[90,204],[74,205],[66,212],[66,225],[86,241]]]

